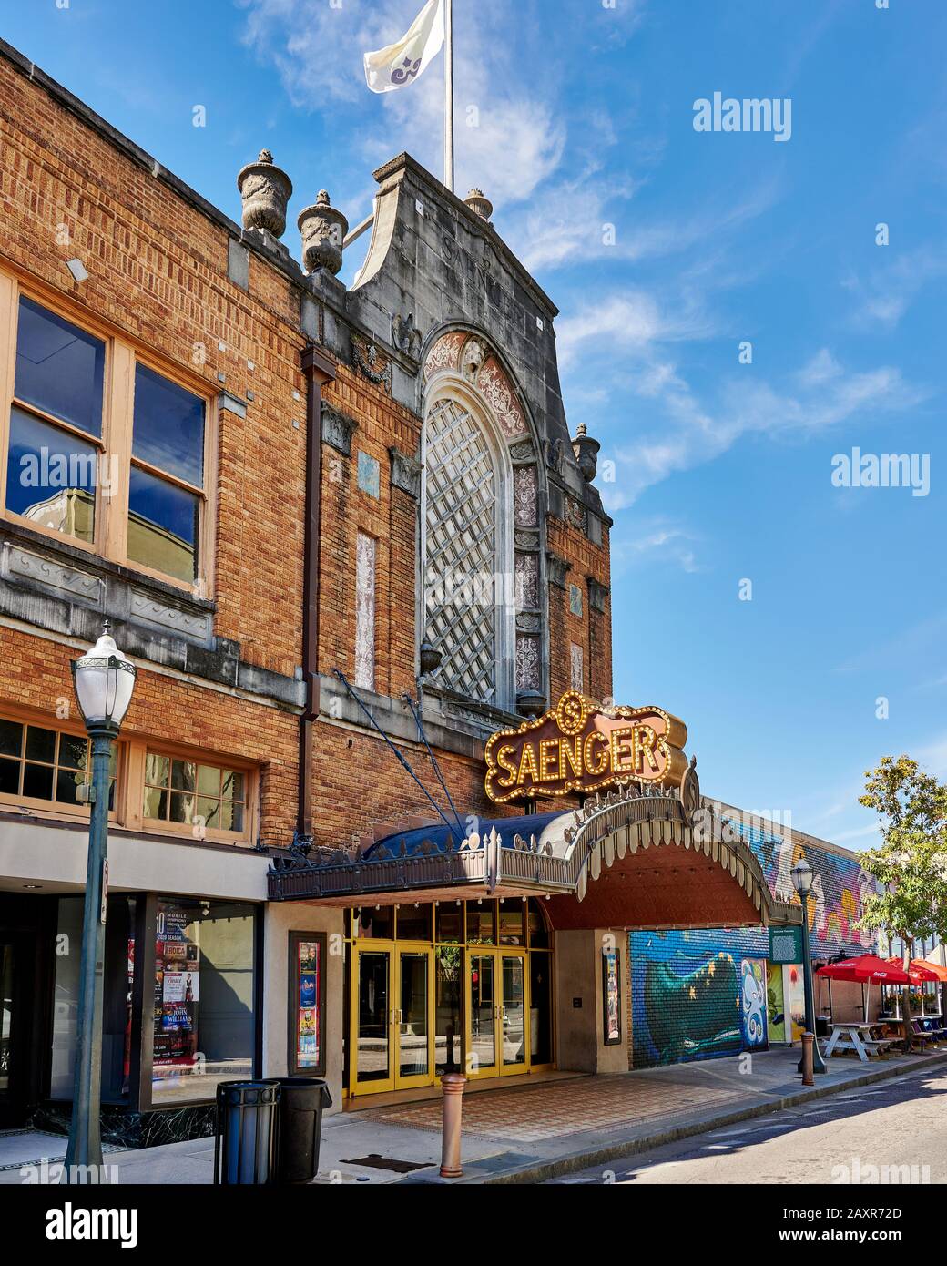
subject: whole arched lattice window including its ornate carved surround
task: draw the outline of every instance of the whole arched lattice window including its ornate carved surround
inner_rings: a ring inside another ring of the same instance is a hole
[[[419,632],[433,685],[506,711],[547,698],[542,463],[499,354],[471,330],[424,358]]]

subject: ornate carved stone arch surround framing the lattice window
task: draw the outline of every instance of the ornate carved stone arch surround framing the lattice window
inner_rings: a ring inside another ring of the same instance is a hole
[[[439,404],[451,400],[470,410],[501,472],[496,557],[511,567],[515,609],[499,630],[498,674],[503,680],[498,677],[496,705],[538,715],[548,699],[548,632],[543,466],[536,428],[501,354],[481,332],[448,328],[437,333],[422,363],[420,637],[427,629],[428,419]]]

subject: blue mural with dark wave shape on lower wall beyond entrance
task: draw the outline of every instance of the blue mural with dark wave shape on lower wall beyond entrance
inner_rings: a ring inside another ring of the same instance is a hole
[[[761,928],[695,932],[632,932],[632,1038],[634,1067],[734,1055],[744,1038],[742,965],[749,972],[746,1014],[766,1041],[762,960],[768,947]],[[746,975],[746,974],[744,974]]]

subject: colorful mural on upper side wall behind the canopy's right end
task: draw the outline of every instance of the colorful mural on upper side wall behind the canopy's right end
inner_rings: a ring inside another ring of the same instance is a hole
[[[875,884],[857,857],[806,848],[799,837],[784,839],[741,822],[734,820],[733,825],[752,848],[772,895],[780,901],[798,904],[790,872],[801,857],[812,866],[815,872],[814,900],[809,904],[813,958],[836,958],[874,948],[874,934],[855,925],[861,918],[862,901]]]

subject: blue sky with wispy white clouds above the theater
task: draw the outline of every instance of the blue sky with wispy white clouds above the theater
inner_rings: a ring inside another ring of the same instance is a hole
[[[386,158],[439,170],[441,58],[386,97],[361,70],[419,8],[3,0],[0,33],[235,219],[267,146],[291,211],[356,223]],[[866,768],[947,776],[947,6],[455,0],[455,38],[458,191],[558,304],[614,462],[617,699],[685,719],[706,793],[870,846]],[[790,99],[790,139],[696,132],[715,91]],[[928,495],[833,486],[853,447],[927,457]]]

